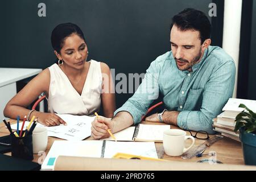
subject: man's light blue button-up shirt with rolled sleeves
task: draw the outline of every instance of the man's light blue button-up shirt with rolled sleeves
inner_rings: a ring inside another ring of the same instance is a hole
[[[181,129],[212,134],[212,119],[232,97],[235,75],[232,57],[220,47],[209,46],[192,72],[180,71],[169,51],[150,64],[137,91],[114,115],[127,111],[137,124],[160,93],[167,110],[180,112],[177,125]]]

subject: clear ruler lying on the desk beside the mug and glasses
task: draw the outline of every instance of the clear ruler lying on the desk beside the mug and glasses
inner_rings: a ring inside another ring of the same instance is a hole
[[[210,147],[213,143],[217,142],[217,140],[222,139],[223,136],[215,135],[214,137],[208,139],[206,142],[200,144],[199,146],[194,146],[190,148],[187,152],[181,155],[183,159],[191,159],[195,157],[197,154],[201,154],[205,150],[205,148]]]

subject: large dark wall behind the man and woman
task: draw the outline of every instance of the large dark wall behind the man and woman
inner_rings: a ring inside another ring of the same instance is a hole
[[[46,17],[38,4],[46,3]],[[47,68],[56,57],[51,47],[53,28],[64,22],[79,25],[89,47],[89,59],[104,61],[117,73],[144,73],[159,55],[170,50],[173,15],[193,7],[208,15],[209,3],[201,0],[10,0],[2,4],[6,19],[0,67]],[[215,1],[217,2],[217,1]],[[223,7],[220,7],[220,9]],[[218,9],[218,10],[220,10]],[[222,10],[221,10],[222,11]],[[222,19],[222,15],[217,18]],[[222,22],[214,21],[219,27]],[[1,26],[2,29],[2,26]],[[218,29],[221,30],[222,28]],[[214,32],[213,32],[214,34]],[[213,36],[218,45],[222,36]],[[117,83],[118,81],[115,81]],[[117,94],[121,106],[132,94]]]

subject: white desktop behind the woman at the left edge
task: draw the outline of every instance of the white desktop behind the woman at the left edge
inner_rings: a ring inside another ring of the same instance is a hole
[[[0,68],[0,86],[28,78],[42,72],[42,69]]]

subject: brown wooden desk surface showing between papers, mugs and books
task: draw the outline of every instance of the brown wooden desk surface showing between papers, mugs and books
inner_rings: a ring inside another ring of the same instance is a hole
[[[14,119],[11,119],[11,123],[15,123],[16,121]],[[163,123],[152,123],[152,122],[142,122],[143,124],[158,124],[158,125],[165,125]],[[178,127],[171,126],[172,129],[176,129]],[[193,132],[192,132],[193,133]],[[0,137],[10,134],[9,131],[6,129],[5,124],[2,122],[0,123]],[[187,132],[187,135],[190,135],[189,132]],[[210,137],[213,137],[213,135],[209,135]],[[87,138],[86,140],[92,140],[92,137]],[[52,143],[55,140],[62,140],[59,138],[54,137],[48,137],[48,145],[46,150],[46,155],[49,152],[49,149],[52,146]],[[204,143],[205,140],[195,139],[195,145],[199,145],[201,143]],[[190,140],[187,141],[187,146],[190,144]],[[211,156],[202,156],[201,158],[192,158],[192,159],[182,159],[180,156],[172,157],[168,156],[164,153],[163,149],[163,143],[155,143],[156,151],[158,153],[158,158],[160,159],[166,159],[166,160],[172,160],[172,161],[179,161],[179,162],[197,162],[201,159],[209,159]],[[221,140],[218,140],[216,143],[214,143],[212,146],[207,147],[207,150],[205,150],[204,154],[207,154],[209,151],[215,151],[217,154],[217,160],[220,160],[224,164],[241,164],[244,165],[243,162],[243,155],[242,155],[242,147],[241,143],[237,142],[236,140],[232,140],[229,138],[224,137]],[[11,153],[7,153],[6,155],[11,155]],[[34,155],[34,162],[42,162],[42,155]]]

